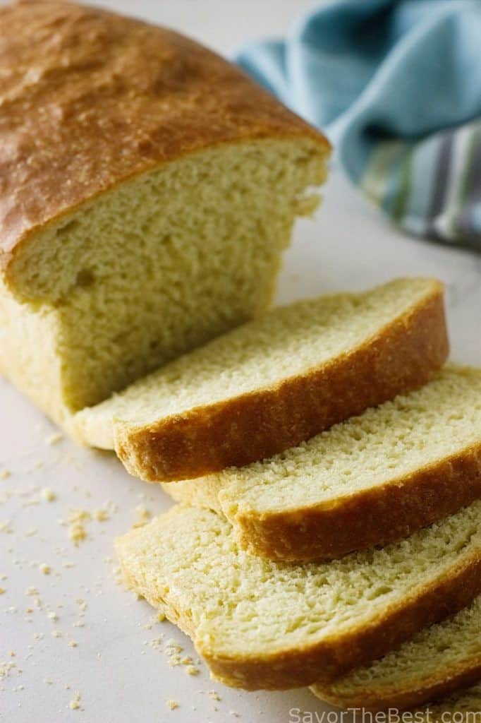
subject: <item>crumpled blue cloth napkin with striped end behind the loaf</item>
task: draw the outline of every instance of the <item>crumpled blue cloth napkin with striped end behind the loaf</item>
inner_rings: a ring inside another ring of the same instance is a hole
[[[481,0],[334,0],[236,60],[405,231],[481,250]]]

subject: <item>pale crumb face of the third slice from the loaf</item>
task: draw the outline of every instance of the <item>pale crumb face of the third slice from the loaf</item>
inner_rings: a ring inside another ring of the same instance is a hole
[[[480,521],[475,502],[384,549],[289,565],[248,555],[215,513],[177,506],[117,539],[116,548],[128,585],[187,632],[218,673],[224,659],[242,667],[290,655],[296,661],[332,640],[334,648],[342,646],[387,609],[479,557]],[[222,680],[242,687],[242,670],[236,677],[233,667]],[[313,656],[306,669],[289,670],[291,679],[298,672],[304,678],[298,685],[315,683],[322,664]],[[260,672],[248,681],[258,688],[268,683]]]

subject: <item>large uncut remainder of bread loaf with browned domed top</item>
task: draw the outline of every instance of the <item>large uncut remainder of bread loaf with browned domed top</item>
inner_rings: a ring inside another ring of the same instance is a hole
[[[181,35],[0,8],[0,370],[52,419],[256,317],[329,143]]]

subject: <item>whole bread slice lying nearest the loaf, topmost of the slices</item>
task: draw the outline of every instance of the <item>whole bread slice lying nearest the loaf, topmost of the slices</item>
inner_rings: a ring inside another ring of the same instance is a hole
[[[298,444],[428,381],[448,351],[443,289],[391,281],[274,309],[76,417],[142,479],[194,478]]]

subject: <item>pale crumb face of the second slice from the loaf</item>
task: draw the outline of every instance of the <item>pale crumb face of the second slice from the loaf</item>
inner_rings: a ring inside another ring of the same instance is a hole
[[[298,447],[164,489],[176,500],[214,508],[234,524],[242,515],[255,517],[261,534],[269,515],[342,504],[472,447],[481,448],[481,369],[444,367],[419,390]]]

